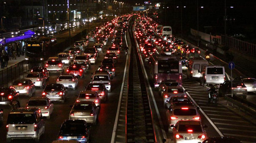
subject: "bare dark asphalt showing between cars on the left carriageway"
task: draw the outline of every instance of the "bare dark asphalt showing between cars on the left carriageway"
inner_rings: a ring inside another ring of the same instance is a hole
[[[103,60],[103,55],[106,53],[106,48],[111,44],[112,37],[108,39],[108,43],[103,49],[103,53],[100,53],[97,58],[97,62],[95,65],[91,65],[88,70],[86,76],[79,80],[79,85],[76,90],[68,90],[68,98],[65,103],[54,102],[54,111],[51,115],[51,119],[45,120],[45,134],[41,136],[41,143],[51,143],[53,140],[57,139],[57,135],[60,129],[60,125],[65,119],[68,119],[71,105],[76,100],[76,94],[79,94],[80,91],[84,90],[84,87],[91,81],[91,73],[98,69],[101,61]],[[93,43],[90,43],[89,47],[93,46]],[[101,104],[101,111],[99,114],[99,123],[97,125],[92,125],[91,127],[91,137],[93,143],[109,143],[112,137],[112,130],[114,126],[115,114],[117,111],[118,99],[120,95],[120,88],[123,79],[123,71],[125,63],[125,53],[122,50],[120,53],[120,57],[118,59],[118,63],[115,64],[116,76],[112,80],[112,91],[108,95],[108,101],[106,103]],[[65,69],[68,66],[65,66]],[[50,73],[49,81],[47,83],[56,83],[57,77],[59,73]],[[41,96],[42,89],[37,89],[34,96]],[[29,101],[29,97],[20,96],[19,101],[21,103],[21,107],[25,107],[27,102]],[[4,120],[3,124],[0,127],[0,139],[3,143],[6,140],[6,130],[5,125],[8,117],[8,112],[11,110],[9,106],[0,106],[0,108],[4,109]],[[14,143],[24,143],[24,140],[13,140]],[[34,140],[26,140],[26,143],[33,143]]]

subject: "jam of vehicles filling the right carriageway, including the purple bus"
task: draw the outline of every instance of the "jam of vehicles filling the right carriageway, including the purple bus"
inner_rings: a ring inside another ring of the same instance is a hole
[[[238,140],[237,136],[230,134],[227,129],[222,135],[227,136],[225,138],[207,136],[208,127],[205,121],[202,122],[203,115],[200,107],[208,109],[205,110],[207,112],[211,112],[209,109],[217,109],[218,112],[219,97],[223,98],[231,93],[233,96],[246,99],[248,92],[256,91],[252,88],[255,79],[238,77],[232,81],[231,86],[231,80],[227,78],[229,75],[226,74],[224,66],[213,65],[207,50],[204,55],[200,56],[199,48],[172,36],[170,26],[159,25],[143,14],[135,19],[133,33],[137,50],[151,84],[149,86],[153,90],[154,100],[158,102],[158,109],[163,108],[159,109],[161,118],[158,119],[162,119],[163,126],[161,127],[167,132],[166,138],[170,138],[174,143],[207,143],[207,140],[208,142],[211,140],[210,143],[215,143],[215,141],[216,143],[218,141],[240,143],[240,141],[248,140],[248,138],[243,138],[244,136],[239,136],[240,140]],[[209,113],[210,116],[215,115],[219,118],[222,115],[225,116],[225,113],[230,116],[235,115],[228,110],[221,110],[219,111],[221,113],[215,114],[212,112]],[[225,119],[212,117],[210,119],[214,123],[215,119],[229,121],[228,116],[225,116]],[[243,120],[241,117],[236,119]],[[233,122],[229,122],[232,124],[216,122],[216,124],[222,127],[230,125],[230,130],[235,130],[232,126],[236,126],[237,122],[243,121],[235,120],[234,125]],[[251,125],[250,122],[246,124]],[[225,128],[221,129],[225,130]],[[245,133],[246,135],[248,134]]]

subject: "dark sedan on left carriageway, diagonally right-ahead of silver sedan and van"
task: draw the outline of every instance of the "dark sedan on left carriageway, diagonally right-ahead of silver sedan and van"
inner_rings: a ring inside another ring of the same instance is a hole
[[[47,84],[42,92],[42,96],[49,98],[51,101],[65,102],[68,96],[68,90],[64,85],[58,83]]]

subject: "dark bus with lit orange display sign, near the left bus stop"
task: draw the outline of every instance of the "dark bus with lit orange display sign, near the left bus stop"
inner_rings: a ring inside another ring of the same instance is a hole
[[[40,37],[37,40],[30,40],[26,43],[26,58],[35,61],[43,61],[46,55],[53,51],[56,44],[55,37]]]

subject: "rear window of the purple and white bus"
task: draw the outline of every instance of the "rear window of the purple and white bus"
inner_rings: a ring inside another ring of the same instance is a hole
[[[178,61],[158,61],[159,74],[178,74],[179,62]]]

